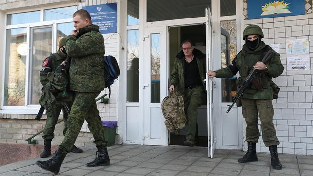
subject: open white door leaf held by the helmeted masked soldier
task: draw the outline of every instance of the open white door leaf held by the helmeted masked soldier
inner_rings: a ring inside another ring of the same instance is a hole
[[[212,70],[212,15],[210,8],[206,9],[206,66],[207,70]],[[214,133],[214,118],[213,118],[213,78],[208,78],[206,75],[206,90],[207,90],[207,122],[208,122],[208,156],[213,158],[215,149],[215,133]]]

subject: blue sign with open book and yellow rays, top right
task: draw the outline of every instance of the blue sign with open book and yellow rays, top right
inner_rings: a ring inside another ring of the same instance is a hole
[[[248,19],[273,18],[305,13],[305,0],[248,0]]]

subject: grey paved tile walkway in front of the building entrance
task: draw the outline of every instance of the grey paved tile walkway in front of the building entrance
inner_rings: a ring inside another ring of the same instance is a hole
[[[258,154],[259,161],[238,163],[239,150],[215,150],[207,157],[207,148],[114,145],[109,147],[110,166],[88,168],[95,158],[93,145],[82,147],[81,154],[69,153],[62,164],[62,176],[313,176],[313,156],[280,154],[282,170],[270,167],[269,154]],[[48,159],[48,158],[47,158]],[[0,166],[0,176],[52,176],[35,165],[42,158]]]

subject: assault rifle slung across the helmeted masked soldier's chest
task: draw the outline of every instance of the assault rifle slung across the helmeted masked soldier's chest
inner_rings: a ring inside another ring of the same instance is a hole
[[[265,54],[265,56],[263,57],[262,62],[263,62],[264,64],[266,64],[266,63],[270,60],[270,58],[272,58],[274,55],[275,55],[275,53],[274,53],[272,50],[269,50],[269,51]],[[261,72],[261,70],[257,70],[257,69],[254,69],[254,68],[250,70],[248,77],[243,81],[243,85],[242,85],[242,86],[239,88],[239,90],[237,91],[237,95],[235,96],[233,103],[232,103],[231,105],[228,105],[229,108],[228,108],[228,110],[227,110],[227,113],[228,113],[228,112],[230,111],[230,109],[235,105],[236,101],[237,101],[240,97],[243,96],[243,94],[244,94],[244,93],[243,93],[244,89],[247,88],[247,87],[250,85],[250,83],[253,83],[254,85],[256,85],[256,87],[257,87],[258,90],[262,90],[262,87],[261,87],[260,83],[259,83],[257,80],[255,80],[255,78],[257,77],[257,75],[258,75],[260,72]]]

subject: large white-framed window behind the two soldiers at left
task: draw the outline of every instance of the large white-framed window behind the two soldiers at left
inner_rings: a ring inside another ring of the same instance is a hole
[[[2,108],[39,104],[42,62],[70,35],[76,10],[69,6],[6,15]]]

